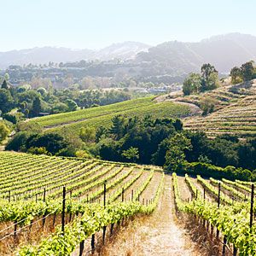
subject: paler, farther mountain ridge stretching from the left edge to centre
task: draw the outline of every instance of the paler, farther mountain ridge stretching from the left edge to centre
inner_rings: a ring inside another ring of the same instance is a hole
[[[150,46],[137,42],[124,42],[112,44],[99,50],[92,49],[68,49],[56,47],[42,47],[33,49],[11,50],[0,52],[0,68],[9,65],[23,64],[48,64],[53,62],[69,62],[81,60],[108,61],[112,59],[127,60],[134,58],[137,53],[147,51]]]

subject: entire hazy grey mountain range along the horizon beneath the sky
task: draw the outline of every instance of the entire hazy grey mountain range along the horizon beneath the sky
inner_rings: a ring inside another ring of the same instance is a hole
[[[157,67],[160,74],[182,75],[199,71],[201,64],[210,62],[221,73],[231,67],[256,60],[256,37],[230,33],[203,39],[197,43],[166,42],[155,47],[137,42],[112,44],[104,49],[34,48],[0,52],[0,68],[11,64],[44,64],[49,61],[67,62],[80,60],[108,61],[112,59],[147,61]],[[157,75],[157,73],[155,73]]]

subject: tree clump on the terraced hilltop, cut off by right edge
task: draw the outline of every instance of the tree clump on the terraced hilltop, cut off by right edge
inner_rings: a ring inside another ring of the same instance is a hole
[[[256,79],[256,66],[254,61],[247,61],[241,67],[233,67],[230,71],[232,84],[239,84]]]

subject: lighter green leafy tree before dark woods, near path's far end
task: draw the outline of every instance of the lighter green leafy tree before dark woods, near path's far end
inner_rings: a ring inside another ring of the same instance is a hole
[[[189,138],[182,133],[177,133],[170,139],[170,146],[166,152],[165,169],[168,172],[177,172],[183,169],[185,163],[185,150],[191,149]]]

